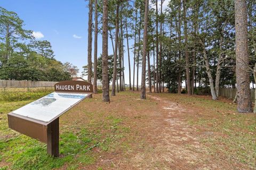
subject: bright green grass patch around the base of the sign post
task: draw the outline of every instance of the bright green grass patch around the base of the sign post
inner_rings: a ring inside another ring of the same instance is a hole
[[[9,140],[0,139],[2,157],[12,169],[53,169],[64,164],[74,167],[94,163],[90,147],[94,141],[89,135],[65,132],[60,135],[60,157],[46,154],[46,145],[35,139],[19,135]],[[84,138],[87,138],[85,141]]]

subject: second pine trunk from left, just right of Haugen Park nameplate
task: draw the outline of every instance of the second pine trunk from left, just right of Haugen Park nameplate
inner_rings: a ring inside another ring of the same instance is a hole
[[[98,2],[94,0],[94,60],[93,60],[93,92],[97,94],[97,50],[98,50]]]

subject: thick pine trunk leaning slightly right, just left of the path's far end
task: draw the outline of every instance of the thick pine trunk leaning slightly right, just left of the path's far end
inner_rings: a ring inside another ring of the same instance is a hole
[[[141,73],[141,92],[140,98],[146,99],[146,57],[147,57],[147,44],[148,44],[148,0],[145,4],[144,15],[144,32],[143,32],[143,56],[142,56],[142,73]]]

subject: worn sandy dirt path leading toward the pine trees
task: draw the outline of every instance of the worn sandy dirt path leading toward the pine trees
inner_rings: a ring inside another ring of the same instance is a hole
[[[197,169],[212,168],[203,165],[206,160],[202,154],[189,148],[199,148],[196,129],[182,118],[189,111],[179,104],[149,96],[159,101],[160,109],[154,112],[148,122],[148,152],[138,152],[131,159],[138,169]],[[152,143],[151,143],[152,142]]]

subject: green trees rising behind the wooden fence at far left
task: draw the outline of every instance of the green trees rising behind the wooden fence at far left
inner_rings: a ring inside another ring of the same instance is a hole
[[[0,79],[62,81],[76,76],[76,66],[55,60],[51,43],[36,40],[23,25],[17,13],[0,7]]]

